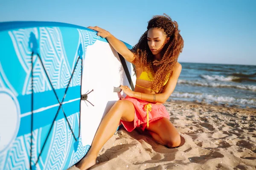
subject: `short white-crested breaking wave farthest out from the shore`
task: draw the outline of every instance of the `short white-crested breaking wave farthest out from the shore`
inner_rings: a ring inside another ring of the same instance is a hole
[[[256,79],[249,79],[247,77],[236,77],[236,76],[219,76],[219,75],[200,75],[200,77],[207,79],[207,80],[217,80],[217,81],[223,81],[223,82],[243,82],[243,81],[249,81],[249,82],[256,82]]]

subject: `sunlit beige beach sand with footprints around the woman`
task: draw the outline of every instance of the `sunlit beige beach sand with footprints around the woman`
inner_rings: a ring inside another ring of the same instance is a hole
[[[180,132],[180,147],[169,149],[122,127],[90,170],[256,169],[256,109],[180,101],[164,105]]]

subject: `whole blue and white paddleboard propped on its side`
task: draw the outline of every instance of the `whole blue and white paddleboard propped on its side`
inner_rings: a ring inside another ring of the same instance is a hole
[[[88,28],[0,23],[0,170],[76,164],[120,97],[113,87],[134,89],[132,70]]]

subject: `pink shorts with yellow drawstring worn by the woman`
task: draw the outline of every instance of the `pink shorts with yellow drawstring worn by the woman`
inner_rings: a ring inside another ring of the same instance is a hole
[[[134,104],[135,109],[135,116],[134,121],[132,122],[126,122],[123,120],[120,120],[122,125],[125,127],[125,129],[128,132],[131,132],[135,129],[135,127],[140,127],[143,131],[145,127],[147,126],[147,111],[145,110],[145,105],[151,102],[147,102],[145,100],[140,100],[137,98],[126,96],[122,100],[129,100]],[[151,111],[148,112],[149,115],[149,123],[153,122],[157,119],[166,117],[167,119],[170,119],[168,111],[166,111],[166,108],[163,104],[153,104],[151,103]]]

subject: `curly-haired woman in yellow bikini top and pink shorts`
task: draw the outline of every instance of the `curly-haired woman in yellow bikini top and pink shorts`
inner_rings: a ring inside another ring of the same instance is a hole
[[[136,66],[135,90],[120,86],[125,99],[117,101],[102,120],[87,155],[76,165],[81,170],[93,166],[99,150],[113,136],[121,122],[129,132],[134,128],[147,130],[152,138],[169,148],[180,145],[180,134],[169,121],[169,113],[162,105],[175,89],[181,65],[177,58],[183,49],[176,21],[164,14],[148,21],[147,31],[130,51],[108,31],[98,31],[128,62]]]

